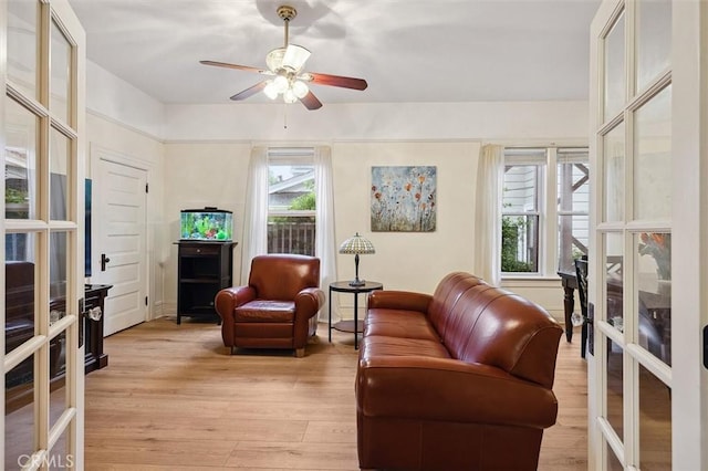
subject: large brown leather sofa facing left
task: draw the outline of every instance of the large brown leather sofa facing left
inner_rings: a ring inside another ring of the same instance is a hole
[[[356,374],[362,469],[535,470],[562,327],[456,272],[433,295],[368,297]]]

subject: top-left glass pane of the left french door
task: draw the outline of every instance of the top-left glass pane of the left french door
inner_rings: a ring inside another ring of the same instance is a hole
[[[8,78],[23,94],[38,100],[39,2],[10,0],[8,3]]]

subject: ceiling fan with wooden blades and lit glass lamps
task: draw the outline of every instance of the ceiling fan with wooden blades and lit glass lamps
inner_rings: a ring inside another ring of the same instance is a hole
[[[285,43],[282,48],[273,49],[268,53],[266,56],[268,70],[251,67],[248,65],[230,64],[228,62],[199,61],[205,65],[256,72],[271,77],[237,93],[231,96],[231,100],[246,100],[256,93],[263,91],[266,96],[271,100],[275,100],[278,96],[282,95],[285,103],[295,103],[296,101],[300,101],[300,103],[302,103],[308,109],[317,109],[322,107],[322,102],[320,102],[320,100],[317,100],[317,97],[310,91],[308,83],[352,90],[365,90],[368,86],[366,81],[363,78],[303,72],[302,67],[311,53],[305,48],[291,44],[289,42],[290,21],[298,15],[298,11],[293,7],[284,4],[278,7],[277,12],[278,17],[282,19],[285,24]]]

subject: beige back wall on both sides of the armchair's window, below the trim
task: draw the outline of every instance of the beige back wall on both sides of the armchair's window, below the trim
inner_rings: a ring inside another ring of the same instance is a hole
[[[362,255],[360,274],[381,281],[385,287],[433,292],[437,282],[454,270],[472,266],[473,208],[477,142],[334,143],[335,237],[339,242],[360,233],[376,248]],[[165,146],[165,231],[170,245],[165,261],[166,312],[177,299],[177,249],[179,211],[217,206],[233,211],[235,239],[242,240],[243,208],[250,144],[167,144]],[[437,230],[428,233],[374,232],[369,230],[372,166],[425,165],[437,167]],[[241,245],[235,250],[238,281]],[[354,276],[354,260],[339,255],[337,279]],[[351,297],[351,296],[348,296]],[[342,300],[348,307],[352,300]],[[336,310],[336,307],[335,307]],[[346,315],[345,313],[343,313]],[[350,312],[351,315],[351,312]]]

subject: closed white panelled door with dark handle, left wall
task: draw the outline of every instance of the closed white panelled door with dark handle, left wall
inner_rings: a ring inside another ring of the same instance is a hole
[[[147,316],[147,172],[101,159],[93,185],[96,249],[92,281],[111,284],[105,300],[104,335],[132,327]]]

